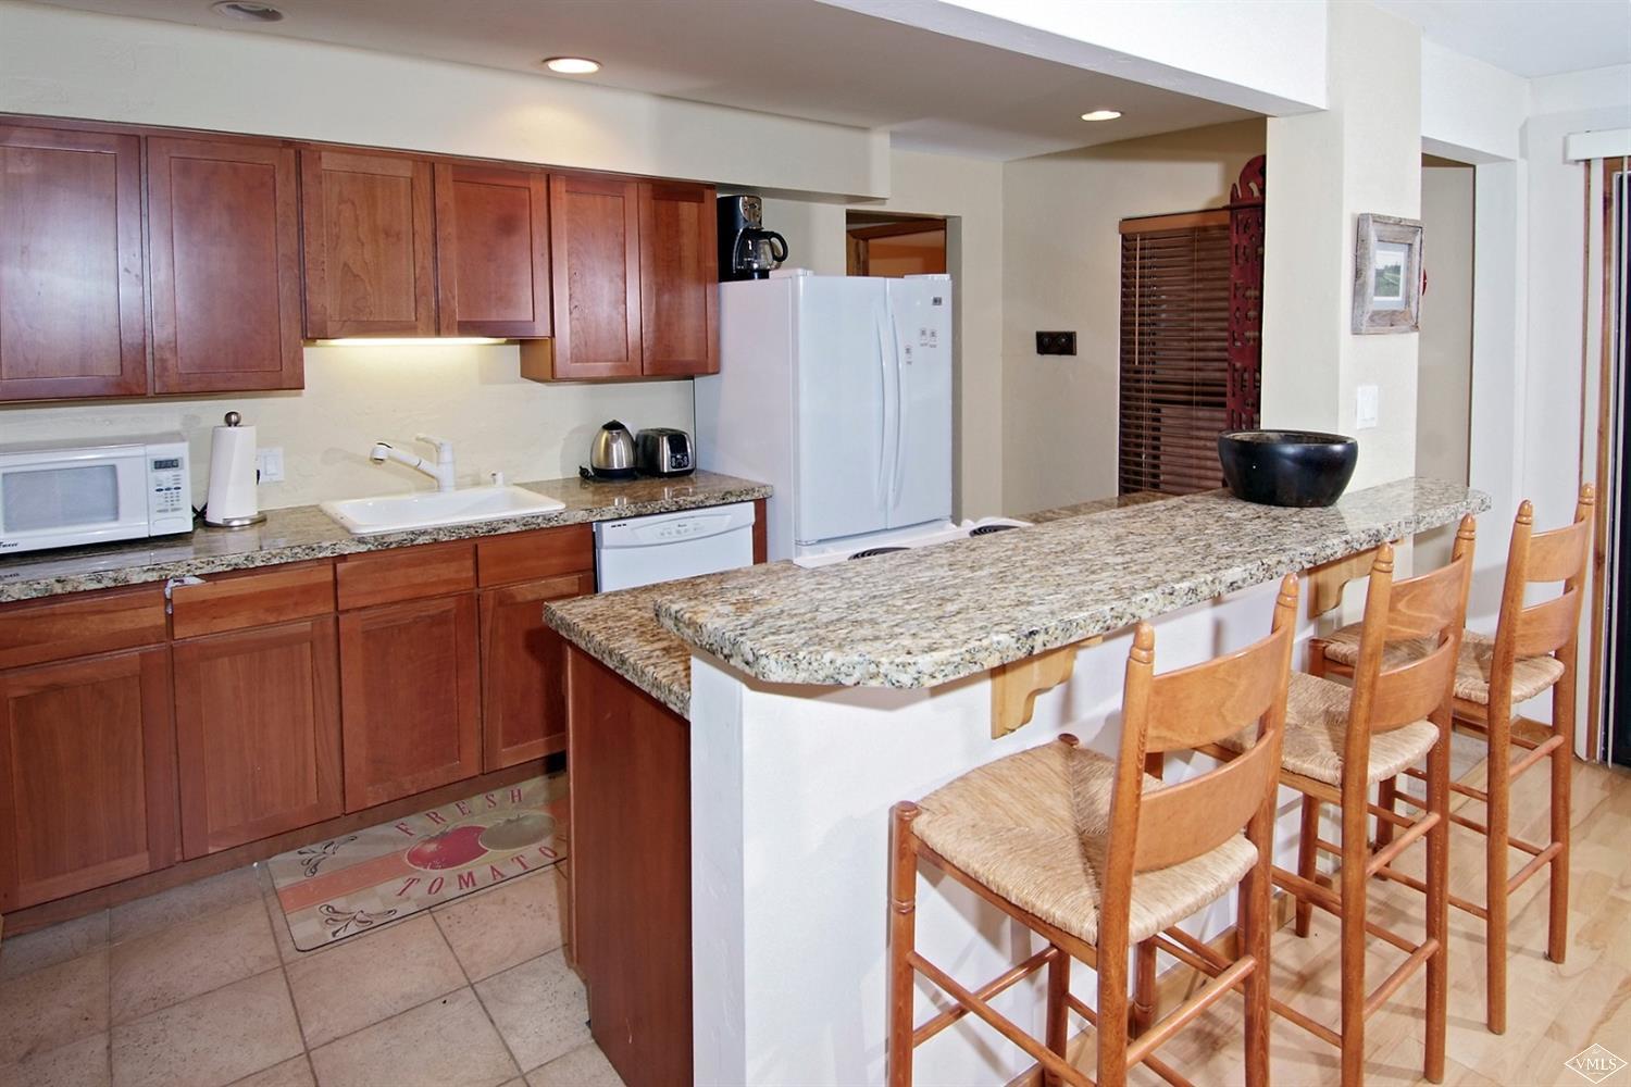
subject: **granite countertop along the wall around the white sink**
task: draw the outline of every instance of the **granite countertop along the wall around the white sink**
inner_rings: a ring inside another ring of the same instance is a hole
[[[566,502],[566,508],[378,536],[352,536],[315,505],[267,510],[266,521],[251,528],[201,526],[181,536],[59,548],[0,559],[0,603],[770,497],[765,484],[705,471],[667,479],[612,482],[574,477],[520,486],[559,499]]]

